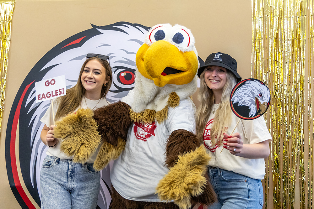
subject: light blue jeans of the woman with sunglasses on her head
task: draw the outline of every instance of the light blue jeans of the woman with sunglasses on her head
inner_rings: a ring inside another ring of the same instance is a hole
[[[76,209],[97,207],[100,171],[92,163],[47,155],[41,167],[41,209]]]

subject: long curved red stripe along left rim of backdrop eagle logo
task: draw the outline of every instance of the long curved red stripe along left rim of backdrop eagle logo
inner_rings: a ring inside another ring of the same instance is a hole
[[[15,153],[15,143],[16,143],[15,138],[16,138],[16,130],[17,130],[17,126],[18,126],[18,121],[19,121],[19,114],[21,111],[21,106],[22,106],[22,102],[23,102],[24,96],[26,94],[26,91],[29,89],[30,85],[33,82],[31,82],[29,85],[27,85],[25,87],[23,94],[19,100],[18,106],[15,110],[13,123],[12,123],[12,130],[11,130],[10,156],[11,156],[11,167],[12,167],[14,185],[15,185],[17,191],[19,192],[20,196],[24,200],[25,204],[31,209],[36,209],[36,207],[33,205],[33,203],[30,201],[30,199],[26,195],[25,191],[23,190],[23,187],[22,187],[21,182],[19,180],[19,174],[18,174],[18,169],[17,169],[17,165],[16,165],[16,158],[15,158],[15,155],[16,155],[16,153]]]

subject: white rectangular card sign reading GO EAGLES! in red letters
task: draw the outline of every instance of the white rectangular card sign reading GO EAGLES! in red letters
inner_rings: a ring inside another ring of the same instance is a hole
[[[36,102],[66,95],[65,75],[35,82]]]

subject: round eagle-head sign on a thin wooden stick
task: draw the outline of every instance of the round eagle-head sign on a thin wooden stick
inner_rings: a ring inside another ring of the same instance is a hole
[[[268,109],[269,103],[270,91],[262,81],[249,78],[237,83],[230,95],[231,110],[239,117],[236,126],[239,124],[240,119],[253,120],[262,116]],[[230,135],[234,132],[236,126]]]

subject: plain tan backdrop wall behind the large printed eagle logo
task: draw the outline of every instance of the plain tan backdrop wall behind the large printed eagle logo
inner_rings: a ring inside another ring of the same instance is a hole
[[[180,24],[191,29],[198,55],[224,52],[251,77],[252,12],[250,0],[17,0],[12,21],[5,109],[0,141],[0,205],[21,208],[10,189],[5,166],[9,112],[24,78],[51,48],[73,34],[119,21],[154,26]]]

